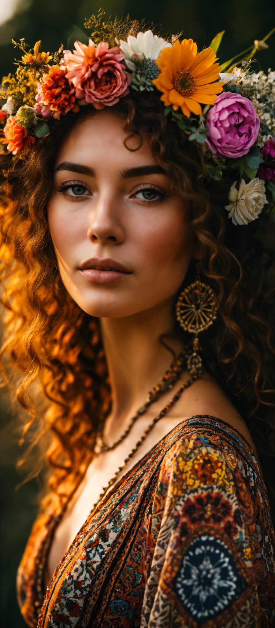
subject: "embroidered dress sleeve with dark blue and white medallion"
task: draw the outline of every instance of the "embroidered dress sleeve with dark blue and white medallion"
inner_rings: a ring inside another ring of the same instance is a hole
[[[153,502],[140,628],[271,628],[274,531],[257,471],[228,440],[177,443]]]

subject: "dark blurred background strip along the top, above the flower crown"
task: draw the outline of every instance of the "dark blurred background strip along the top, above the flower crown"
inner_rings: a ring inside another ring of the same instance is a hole
[[[83,26],[85,18],[97,14],[103,6],[106,15],[118,17],[129,13],[132,19],[153,21],[162,33],[183,32],[187,39],[192,38],[199,50],[209,46],[212,38],[226,30],[219,48],[220,63],[246,50],[255,39],[261,40],[275,25],[274,1],[266,0],[191,0],[171,3],[167,0],[105,0],[96,4],[90,0],[0,0],[0,72],[1,77],[14,72],[14,57],[20,58],[21,51],[14,49],[11,38],[16,41],[24,37],[33,47],[41,40],[44,51],[73,48],[78,39],[86,43],[90,32]],[[14,15],[9,15],[13,9]],[[5,17],[6,15],[6,17]],[[8,21],[4,21],[7,19]],[[4,23],[3,23],[4,22]],[[2,23],[2,24],[1,24]],[[268,50],[257,53],[257,60],[264,72],[274,65],[275,35],[267,41]],[[23,53],[22,53],[23,54]],[[260,67],[254,64],[256,71]]]

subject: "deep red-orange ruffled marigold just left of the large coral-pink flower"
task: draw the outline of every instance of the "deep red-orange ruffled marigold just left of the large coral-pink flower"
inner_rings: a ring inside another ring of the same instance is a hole
[[[38,82],[35,99],[38,102],[34,106],[36,111],[44,117],[53,115],[58,120],[61,114],[65,116],[75,107],[75,87],[70,85],[62,67],[52,65],[48,74],[43,73]]]

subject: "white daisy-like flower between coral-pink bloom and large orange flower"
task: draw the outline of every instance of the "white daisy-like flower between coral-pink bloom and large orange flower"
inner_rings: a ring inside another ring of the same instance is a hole
[[[137,37],[129,35],[127,41],[120,40],[120,49],[125,57],[125,63],[129,70],[135,71],[135,63],[131,61],[133,55],[140,55],[143,53],[145,58],[157,59],[160,56],[160,51],[163,48],[171,48],[172,44],[167,43],[162,37],[153,35],[152,31],[146,31],[146,33],[138,33]],[[136,59],[138,57],[135,57]]]

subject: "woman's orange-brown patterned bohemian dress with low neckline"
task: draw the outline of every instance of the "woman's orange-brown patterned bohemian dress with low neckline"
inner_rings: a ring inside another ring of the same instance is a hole
[[[18,603],[33,628],[275,625],[266,487],[249,443],[225,421],[182,421],[123,475],[43,599],[55,526],[54,512],[39,514],[18,568]]]

